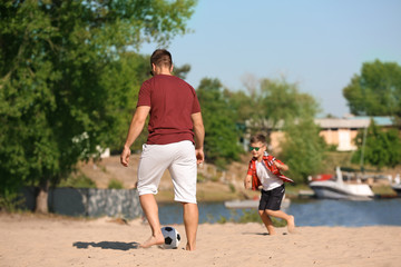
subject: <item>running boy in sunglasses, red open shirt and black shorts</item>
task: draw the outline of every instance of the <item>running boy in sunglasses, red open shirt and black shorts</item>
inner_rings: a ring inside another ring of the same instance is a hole
[[[251,138],[251,152],[253,158],[250,161],[244,186],[246,189],[252,188],[252,190],[258,190],[258,187],[262,187],[258,214],[267,228],[268,235],[275,235],[271,216],[285,219],[288,231],[294,233],[294,216],[280,210],[285,192],[284,181],[293,182],[293,180],[283,176],[280,170],[288,170],[288,166],[266,152],[266,138],[264,135]]]

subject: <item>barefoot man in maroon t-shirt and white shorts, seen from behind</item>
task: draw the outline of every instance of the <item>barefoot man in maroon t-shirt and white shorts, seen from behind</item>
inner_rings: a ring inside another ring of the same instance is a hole
[[[197,164],[204,161],[205,137],[200,106],[194,88],[172,75],[173,60],[167,50],[157,49],[150,57],[150,66],[154,77],[140,87],[120,161],[128,166],[130,146],[150,115],[149,135],[138,166],[137,189],[151,236],[141,247],[164,244],[154,195],[164,171],[168,169],[174,185],[174,200],[183,204],[186,249],[195,250],[198,226],[196,176]]]

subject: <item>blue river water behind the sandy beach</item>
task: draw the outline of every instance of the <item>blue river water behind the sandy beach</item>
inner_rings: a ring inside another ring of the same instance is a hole
[[[214,224],[225,217],[237,219],[241,209],[226,209],[224,202],[199,202],[199,222]],[[348,200],[292,200],[285,210],[294,215],[297,226],[401,226],[401,198],[371,201]],[[183,224],[180,204],[159,206],[162,225]]]

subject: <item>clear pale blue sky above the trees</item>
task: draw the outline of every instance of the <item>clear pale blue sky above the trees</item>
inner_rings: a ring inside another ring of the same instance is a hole
[[[350,112],[342,90],[364,62],[401,66],[400,0],[198,0],[187,26],[193,33],[167,49],[175,66],[190,65],[195,89],[203,78],[232,91],[246,91],[246,77],[285,78],[316,99],[319,116]]]

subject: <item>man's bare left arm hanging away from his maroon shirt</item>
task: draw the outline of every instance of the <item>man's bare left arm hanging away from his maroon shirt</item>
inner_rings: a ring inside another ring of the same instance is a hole
[[[150,111],[150,107],[148,106],[140,106],[137,107],[133,120],[129,126],[128,135],[126,142],[124,145],[124,149],[120,156],[120,162],[125,167],[128,167],[129,156],[130,156],[130,146],[134,141],[138,138],[141,130],[144,129],[146,118]]]

